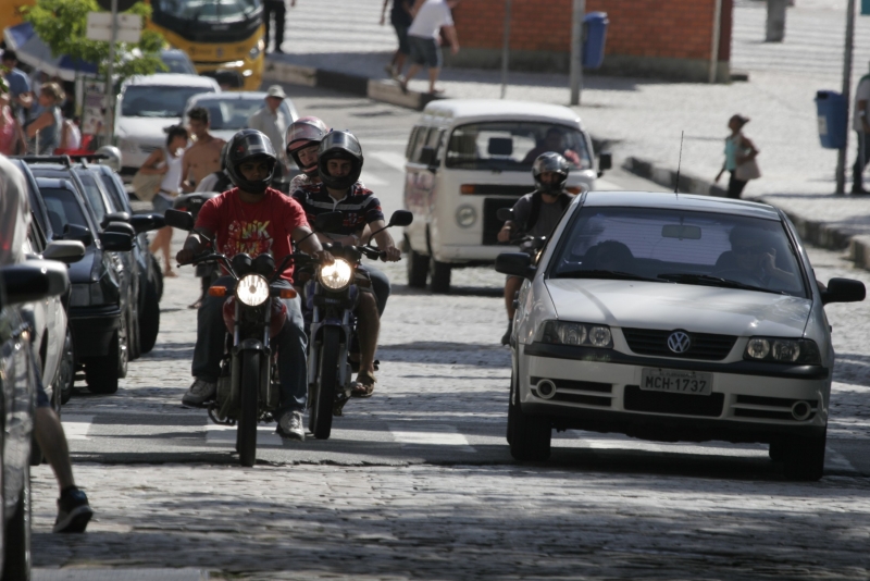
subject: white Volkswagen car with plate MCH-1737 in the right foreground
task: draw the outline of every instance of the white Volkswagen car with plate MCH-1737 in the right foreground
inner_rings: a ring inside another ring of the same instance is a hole
[[[818,480],[834,350],[829,302],[788,219],[700,196],[579,196],[546,247],[496,260],[523,276],[511,336],[508,442],[545,460],[554,429],[658,441],[758,442]]]

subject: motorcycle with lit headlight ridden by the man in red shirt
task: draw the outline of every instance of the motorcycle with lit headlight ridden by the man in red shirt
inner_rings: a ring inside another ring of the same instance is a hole
[[[191,231],[194,217],[188,212],[166,210],[166,224]],[[214,240],[209,240],[214,248]],[[277,284],[290,262],[316,262],[304,254],[285,257],[275,264],[265,252],[251,258],[243,252],[232,259],[213,250],[192,261],[198,264],[221,264],[236,282],[234,293],[226,286],[211,286],[209,295],[226,297],[223,318],[226,324],[226,354],[221,361],[215,400],[207,405],[209,418],[216,424],[238,425],[236,450],[241,466],[257,460],[257,424],[272,422],[281,404],[278,353],[272,339],[287,321],[287,309],[281,299],[296,297],[296,290]]]

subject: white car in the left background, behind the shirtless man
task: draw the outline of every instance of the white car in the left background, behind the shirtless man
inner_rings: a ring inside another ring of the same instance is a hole
[[[216,81],[198,75],[160,73],[125,81],[115,118],[122,172],[135,173],[154,149],[165,147],[163,129],[184,122],[184,106],[191,96],[220,91]]]

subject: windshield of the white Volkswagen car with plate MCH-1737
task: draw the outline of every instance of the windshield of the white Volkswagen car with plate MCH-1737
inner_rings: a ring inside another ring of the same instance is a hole
[[[634,279],[807,297],[781,222],[651,208],[577,211],[551,261],[555,279]]]

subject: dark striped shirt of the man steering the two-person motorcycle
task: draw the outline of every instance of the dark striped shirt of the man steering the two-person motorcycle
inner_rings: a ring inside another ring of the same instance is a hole
[[[295,189],[293,198],[299,202],[306,212],[309,224],[314,224],[318,215],[326,212],[341,212],[345,222],[340,228],[335,228],[326,234],[349,236],[359,235],[365,227],[377,220],[384,220],[381,201],[375,198],[371,189],[366,189],[360,182],[350,187],[349,193],[336,200],[326,191],[323,184],[308,185]]]

